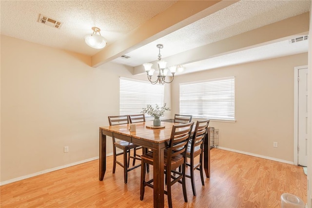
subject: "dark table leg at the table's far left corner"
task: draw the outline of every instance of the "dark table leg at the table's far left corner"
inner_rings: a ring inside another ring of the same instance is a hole
[[[103,181],[106,171],[106,135],[102,134],[99,129],[99,164],[98,164],[98,180]]]

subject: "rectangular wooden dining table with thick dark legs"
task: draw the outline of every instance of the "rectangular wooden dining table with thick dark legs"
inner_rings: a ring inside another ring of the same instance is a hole
[[[150,128],[153,121],[136,123],[136,131],[129,130],[129,124],[99,127],[99,180],[102,181],[106,171],[106,136],[131,142],[153,151],[154,165],[154,207],[164,207],[164,149],[168,146],[173,125],[178,123],[161,122],[164,128]],[[195,127],[195,125],[194,125]],[[194,130],[194,129],[193,129]],[[210,129],[204,142],[204,170],[210,177]],[[138,196],[139,199],[139,196]]]

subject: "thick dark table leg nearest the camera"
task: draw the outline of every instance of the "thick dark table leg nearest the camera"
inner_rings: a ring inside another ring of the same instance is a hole
[[[153,149],[154,207],[164,207],[164,148]]]

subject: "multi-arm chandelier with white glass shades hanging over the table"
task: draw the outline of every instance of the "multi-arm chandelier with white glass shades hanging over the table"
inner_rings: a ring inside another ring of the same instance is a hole
[[[176,73],[176,66],[170,66],[169,70],[172,74],[172,78],[170,82],[166,81],[166,76],[168,74],[168,68],[166,68],[167,62],[166,61],[162,61],[161,60],[161,55],[160,55],[160,49],[163,48],[164,46],[162,44],[157,44],[156,47],[159,50],[159,54],[158,54],[158,75],[157,75],[157,79],[155,81],[152,81],[152,76],[154,74],[155,69],[152,68],[152,63],[143,63],[143,66],[145,68],[146,74],[147,74],[147,78],[148,80],[152,83],[152,84],[165,84],[165,83],[172,83],[172,81],[174,81],[175,78],[175,73]]]

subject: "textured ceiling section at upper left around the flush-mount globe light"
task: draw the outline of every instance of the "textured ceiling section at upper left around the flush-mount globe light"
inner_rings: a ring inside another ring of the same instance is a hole
[[[108,44],[117,41],[176,1],[1,0],[1,34],[94,55],[84,36],[99,27]],[[62,22],[60,29],[38,22],[39,14]]]

